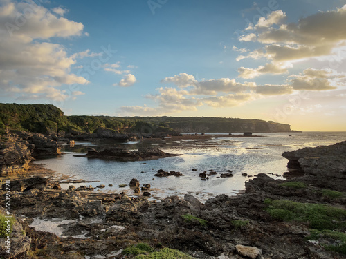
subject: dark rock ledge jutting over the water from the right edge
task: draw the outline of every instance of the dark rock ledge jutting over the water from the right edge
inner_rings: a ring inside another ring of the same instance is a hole
[[[287,166],[291,171],[346,179],[346,141],[331,146],[302,148],[285,152],[282,156],[289,160]]]

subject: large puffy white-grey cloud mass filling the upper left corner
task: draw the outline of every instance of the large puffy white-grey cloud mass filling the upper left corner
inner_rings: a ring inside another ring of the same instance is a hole
[[[33,1],[3,0],[0,7],[0,88],[19,99],[62,100],[62,84],[88,84],[70,72],[75,55],[52,37],[80,36],[83,24],[57,17]],[[55,10],[62,14],[61,10]],[[55,12],[56,13],[56,12]],[[18,23],[21,21],[21,23]]]

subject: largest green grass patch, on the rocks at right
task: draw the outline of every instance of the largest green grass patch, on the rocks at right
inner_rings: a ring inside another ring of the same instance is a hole
[[[265,200],[266,211],[276,220],[305,222],[311,229],[339,229],[346,227],[346,210],[326,204]]]

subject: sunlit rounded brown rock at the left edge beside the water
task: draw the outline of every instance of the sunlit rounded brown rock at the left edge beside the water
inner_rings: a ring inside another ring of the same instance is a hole
[[[0,136],[0,176],[16,175],[28,169],[33,159],[28,149],[28,142],[19,139],[15,134]]]

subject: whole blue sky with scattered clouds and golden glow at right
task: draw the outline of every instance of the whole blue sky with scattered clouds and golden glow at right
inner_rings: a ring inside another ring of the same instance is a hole
[[[0,0],[0,102],[346,131],[346,1]]]

